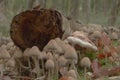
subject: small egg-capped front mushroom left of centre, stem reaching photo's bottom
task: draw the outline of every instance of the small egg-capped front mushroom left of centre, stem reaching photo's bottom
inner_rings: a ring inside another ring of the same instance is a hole
[[[48,80],[52,80],[54,67],[54,61],[52,59],[48,59],[45,63],[45,68],[48,70]]]

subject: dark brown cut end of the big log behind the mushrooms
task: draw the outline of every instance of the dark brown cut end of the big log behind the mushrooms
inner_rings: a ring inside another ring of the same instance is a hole
[[[52,9],[27,10],[13,18],[10,36],[20,49],[38,46],[40,50],[56,37],[62,38],[62,16]]]

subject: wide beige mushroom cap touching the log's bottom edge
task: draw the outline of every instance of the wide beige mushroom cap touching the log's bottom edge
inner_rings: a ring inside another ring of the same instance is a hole
[[[23,56],[39,56],[41,54],[41,51],[37,46],[33,46],[32,48],[27,48],[24,51]]]

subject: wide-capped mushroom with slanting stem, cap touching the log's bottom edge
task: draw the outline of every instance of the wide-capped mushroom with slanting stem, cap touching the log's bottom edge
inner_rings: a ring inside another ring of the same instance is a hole
[[[41,54],[39,48],[37,46],[33,46],[32,48],[27,48],[24,51],[23,56],[28,56],[32,57],[34,63],[35,63],[35,68],[37,69],[37,77],[41,75],[40,67],[39,67],[39,55]]]

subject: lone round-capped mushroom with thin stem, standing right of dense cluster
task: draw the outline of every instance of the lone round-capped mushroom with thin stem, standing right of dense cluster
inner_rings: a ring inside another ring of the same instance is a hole
[[[81,66],[84,67],[84,78],[86,80],[86,73],[87,73],[87,68],[90,68],[91,66],[91,61],[88,57],[84,57],[81,59]]]

